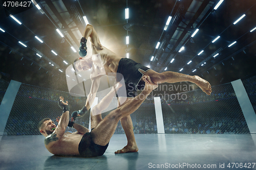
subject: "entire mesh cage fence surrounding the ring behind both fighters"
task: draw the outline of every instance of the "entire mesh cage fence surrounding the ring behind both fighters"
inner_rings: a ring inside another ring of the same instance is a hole
[[[243,83],[255,109],[255,77]],[[8,84],[1,82],[1,92],[6,91]],[[37,124],[46,117],[54,120],[57,125],[56,117],[62,114],[57,105],[59,96],[63,96],[65,101],[69,102],[70,115],[73,111],[80,110],[87,99],[83,96],[73,96],[68,92],[20,85],[4,135],[40,135]],[[131,114],[135,134],[157,133],[155,104],[151,96],[153,95],[149,95]],[[165,133],[249,133],[231,83],[212,87],[211,95],[206,95],[202,90],[193,90],[160,96]],[[98,97],[98,103],[102,98],[103,96]],[[117,107],[116,98],[109,107],[111,110],[103,111],[102,118]],[[76,119],[75,123],[89,128],[89,119],[89,114],[84,115]],[[68,127],[66,131],[75,132],[75,129]],[[120,121],[115,134],[124,134]]]

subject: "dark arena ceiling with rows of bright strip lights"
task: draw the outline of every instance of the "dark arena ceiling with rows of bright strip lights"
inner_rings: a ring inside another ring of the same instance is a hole
[[[0,31],[3,79],[68,91],[65,70],[79,57],[78,46],[86,27],[83,16],[104,46],[121,57],[129,53],[129,58],[158,72],[198,75],[211,85],[255,74],[254,0],[224,0],[216,10],[219,0],[41,0],[36,1],[40,10],[33,5],[23,12],[19,11],[22,7],[6,11],[4,2],[0,6],[0,28],[5,31]],[[129,19],[125,19],[125,8],[129,8]],[[166,26],[169,16],[172,19]]]

